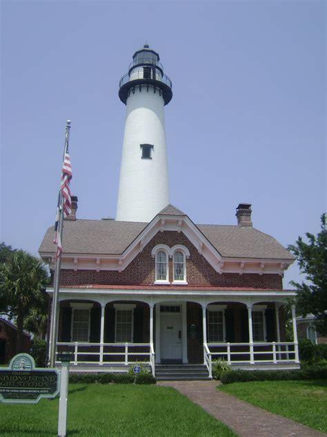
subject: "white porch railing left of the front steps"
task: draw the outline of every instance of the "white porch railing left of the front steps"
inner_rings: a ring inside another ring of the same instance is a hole
[[[155,350],[152,343],[81,343],[57,342],[56,352],[72,353],[73,364],[130,366],[136,361],[149,362],[155,376]]]

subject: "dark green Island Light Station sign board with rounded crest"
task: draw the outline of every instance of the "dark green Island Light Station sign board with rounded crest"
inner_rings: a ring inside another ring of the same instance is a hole
[[[19,353],[9,367],[0,368],[0,402],[36,404],[41,398],[54,398],[59,389],[59,371],[35,369],[28,353]]]

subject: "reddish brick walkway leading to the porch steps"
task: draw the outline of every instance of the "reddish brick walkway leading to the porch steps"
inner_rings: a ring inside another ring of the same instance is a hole
[[[240,437],[322,437],[324,434],[299,422],[269,413],[264,409],[218,391],[217,381],[159,381],[174,387],[200,405]]]

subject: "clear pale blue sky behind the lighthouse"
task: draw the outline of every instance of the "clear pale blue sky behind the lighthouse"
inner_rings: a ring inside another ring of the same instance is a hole
[[[119,79],[148,43],[172,80],[170,203],[284,246],[326,211],[324,1],[1,1],[0,241],[37,255],[54,223],[66,120],[77,218],[115,217]],[[64,236],[63,236],[64,244]],[[288,282],[301,279],[296,263]]]

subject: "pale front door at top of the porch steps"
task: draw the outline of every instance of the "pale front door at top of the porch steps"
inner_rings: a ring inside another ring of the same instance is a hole
[[[160,357],[161,360],[182,360],[180,313],[160,314]]]

